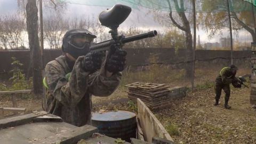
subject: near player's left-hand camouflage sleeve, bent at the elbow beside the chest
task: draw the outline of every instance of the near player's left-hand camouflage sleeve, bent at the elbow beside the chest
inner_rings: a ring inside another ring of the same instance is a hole
[[[87,91],[87,79],[89,74],[80,68],[82,57],[79,57],[70,78],[63,74],[63,68],[54,63],[48,63],[45,67],[45,77],[49,91],[55,99],[67,107],[74,107],[84,97]]]

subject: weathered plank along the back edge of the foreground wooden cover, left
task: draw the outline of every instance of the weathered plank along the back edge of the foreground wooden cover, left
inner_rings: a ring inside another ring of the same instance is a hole
[[[6,127],[13,127],[13,126],[21,125],[21,124],[26,124],[26,123],[31,122],[31,120],[34,117],[43,116],[46,114],[47,114],[46,111],[34,111],[31,114],[0,119],[0,129],[4,129]]]

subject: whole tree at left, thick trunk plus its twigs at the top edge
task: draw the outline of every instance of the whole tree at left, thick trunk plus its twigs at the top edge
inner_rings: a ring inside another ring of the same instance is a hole
[[[36,0],[17,0],[19,12],[27,18],[27,31],[30,49],[30,64],[33,69],[33,86],[35,94],[43,93],[42,85],[42,57],[39,50],[38,38],[38,9]],[[51,6],[57,10],[58,5],[62,7],[65,3],[57,0],[44,1],[45,6]],[[62,5],[63,4],[63,5]]]

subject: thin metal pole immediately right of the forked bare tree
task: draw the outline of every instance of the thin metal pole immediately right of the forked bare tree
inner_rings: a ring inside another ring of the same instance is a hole
[[[191,79],[192,91],[194,91],[194,78],[195,78],[195,51],[196,51],[196,0],[193,0],[194,10],[194,49],[193,49],[193,75]]]

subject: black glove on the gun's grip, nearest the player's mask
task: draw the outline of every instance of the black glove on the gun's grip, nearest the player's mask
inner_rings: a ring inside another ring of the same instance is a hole
[[[87,53],[84,57],[84,60],[82,61],[82,69],[90,73],[100,69],[103,56],[104,54],[102,52]]]

